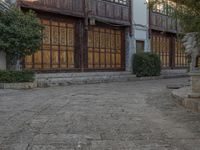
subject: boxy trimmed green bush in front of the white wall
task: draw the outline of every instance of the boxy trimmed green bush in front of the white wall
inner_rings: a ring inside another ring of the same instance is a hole
[[[161,72],[160,57],[152,53],[134,54],[133,73],[137,77],[159,76]]]

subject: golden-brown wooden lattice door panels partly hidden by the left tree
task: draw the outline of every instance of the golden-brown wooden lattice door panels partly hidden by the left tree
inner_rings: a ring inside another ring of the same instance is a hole
[[[62,70],[74,68],[75,25],[72,21],[41,19],[44,25],[42,49],[25,58],[25,68]]]

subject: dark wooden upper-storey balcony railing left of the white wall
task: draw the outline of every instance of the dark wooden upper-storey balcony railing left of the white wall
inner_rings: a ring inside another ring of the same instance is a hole
[[[130,0],[18,0],[22,7],[130,25]]]

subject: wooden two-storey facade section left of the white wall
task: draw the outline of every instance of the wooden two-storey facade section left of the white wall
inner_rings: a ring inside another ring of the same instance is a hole
[[[42,49],[24,60],[36,71],[126,70],[129,0],[20,0],[45,26]]]

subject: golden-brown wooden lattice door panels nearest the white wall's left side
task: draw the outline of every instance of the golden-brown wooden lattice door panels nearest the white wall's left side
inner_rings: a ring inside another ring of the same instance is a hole
[[[122,69],[124,50],[122,30],[90,27],[88,31],[88,68]]]

